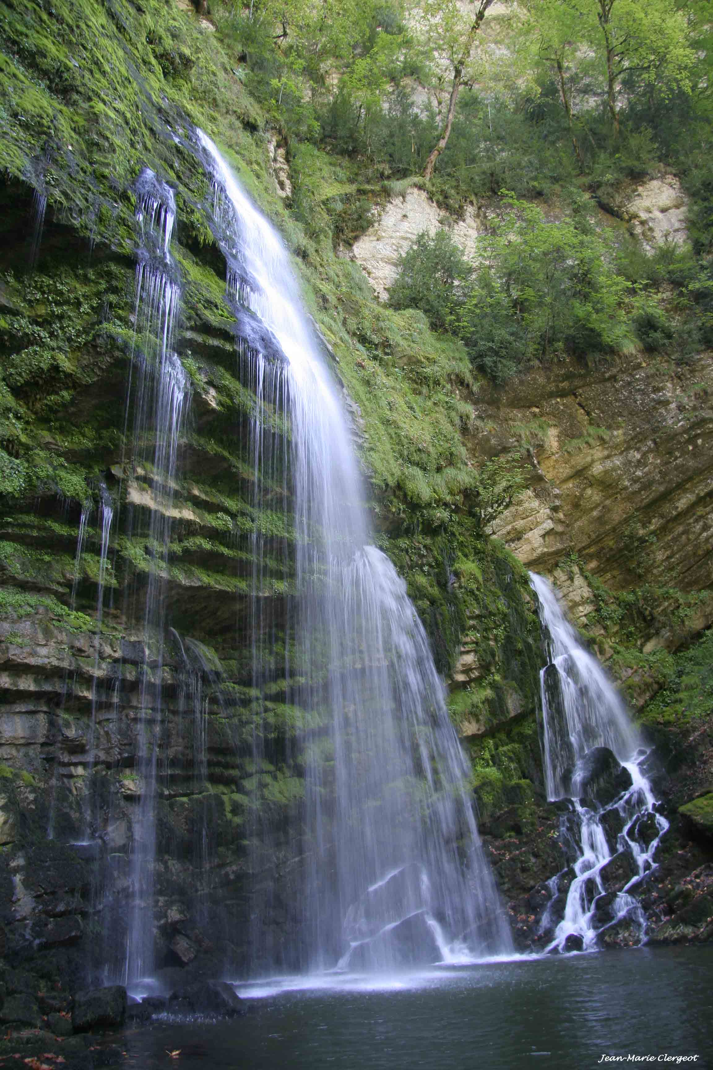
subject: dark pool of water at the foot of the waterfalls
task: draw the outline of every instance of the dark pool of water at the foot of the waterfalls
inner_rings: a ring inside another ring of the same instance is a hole
[[[331,974],[261,988],[250,987],[247,1013],[231,1022],[158,1022],[128,1035],[122,1065],[588,1070],[619,1065],[600,1064],[604,1054],[625,1063],[631,1053],[654,1056],[644,1065],[677,1066],[657,1060],[668,1054],[698,1055],[679,1066],[713,1066],[713,947],[521,959],[383,978]],[[181,1055],[173,1061],[166,1053],[175,1049]]]

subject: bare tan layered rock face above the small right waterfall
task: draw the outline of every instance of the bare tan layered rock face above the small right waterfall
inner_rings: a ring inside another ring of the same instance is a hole
[[[644,576],[704,590],[713,581],[712,393],[708,353],[684,368],[655,358],[589,372],[541,368],[492,391],[474,406],[490,428],[474,438],[474,458],[517,445],[518,428],[539,435],[527,450],[529,490],[493,533],[534,571],[552,575],[574,551],[613,590]],[[591,592],[580,578],[564,586],[578,623]],[[694,630],[712,615],[701,605]],[[671,648],[677,637],[660,645]]]

